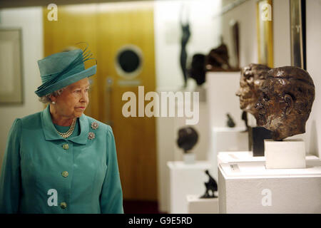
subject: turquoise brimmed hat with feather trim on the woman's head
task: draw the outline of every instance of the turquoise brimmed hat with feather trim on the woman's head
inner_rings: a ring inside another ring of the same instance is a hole
[[[87,49],[87,48],[86,48]],[[90,51],[75,49],[55,53],[38,61],[42,85],[35,91],[39,97],[59,90],[83,78],[93,76],[97,65],[85,69],[84,62],[93,58]]]

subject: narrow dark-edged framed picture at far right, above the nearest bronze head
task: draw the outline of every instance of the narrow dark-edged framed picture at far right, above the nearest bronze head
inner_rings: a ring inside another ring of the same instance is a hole
[[[306,69],[305,0],[290,0],[291,65]]]

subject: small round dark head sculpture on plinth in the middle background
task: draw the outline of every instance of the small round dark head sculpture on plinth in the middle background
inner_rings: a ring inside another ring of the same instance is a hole
[[[188,153],[195,144],[198,142],[198,133],[194,128],[185,127],[178,130],[177,145],[184,150],[184,153]]]

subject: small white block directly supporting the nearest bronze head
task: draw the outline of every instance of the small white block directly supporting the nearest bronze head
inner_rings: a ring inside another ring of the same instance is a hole
[[[267,169],[305,168],[305,142],[301,139],[264,140]]]

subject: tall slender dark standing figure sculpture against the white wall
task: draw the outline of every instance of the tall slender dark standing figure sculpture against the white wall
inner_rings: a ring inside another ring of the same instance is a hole
[[[183,10],[183,9],[182,9]],[[182,37],[180,38],[180,68],[182,69],[183,77],[184,77],[184,88],[187,84],[187,70],[186,70],[186,61],[187,61],[187,51],[186,46],[188,40],[190,39],[190,24],[187,22],[183,24],[182,16],[180,16],[180,28],[182,30]]]

